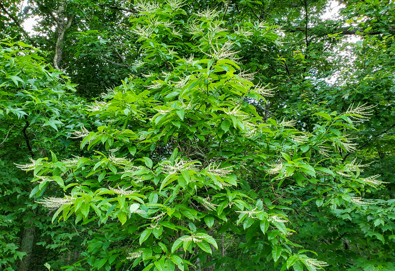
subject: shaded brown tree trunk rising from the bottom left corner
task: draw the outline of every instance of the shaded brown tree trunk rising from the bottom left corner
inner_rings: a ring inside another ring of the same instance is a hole
[[[32,260],[32,251],[34,246],[34,239],[36,236],[36,227],[33,225],[33,219],[26,222],[26,227],[23,231],[23,237],[21,241],[22,252],[26,252],[26,256],[23,256],[19,263],[18,271],[30,271],[32,270],[30,262]]]

